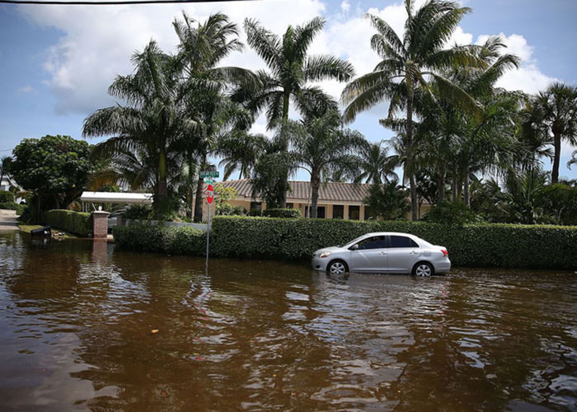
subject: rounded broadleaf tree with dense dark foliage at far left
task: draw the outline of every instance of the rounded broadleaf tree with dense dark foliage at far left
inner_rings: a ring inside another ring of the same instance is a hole
[[[10,172],[18,185],[36,197],[36,220],[40,209],[67,208],[83,192],[93,169],[91,146],[70,136],[28,138],[18,144]]]

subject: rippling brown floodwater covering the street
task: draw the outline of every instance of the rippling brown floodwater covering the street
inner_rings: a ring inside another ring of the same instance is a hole
[[[207,273],[0,233],[0,410],[577,411],[576,276]]]

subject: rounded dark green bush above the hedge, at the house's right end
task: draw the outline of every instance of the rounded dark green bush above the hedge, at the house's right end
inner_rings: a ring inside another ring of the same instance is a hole
[[[369,188],[369,195],[365,198],[365,205],[372,215],[384,220],[404,218],[410,211],[411,205],[407,200],[407,191],[397,184],[396,180],[388,183],[373,184]]]

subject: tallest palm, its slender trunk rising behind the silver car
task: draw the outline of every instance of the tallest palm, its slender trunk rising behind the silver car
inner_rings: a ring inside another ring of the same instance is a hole
[[[474,46],[444,48],[463,16],[471,11],[450,1],[431,0],[413,14],[413,0],[405,0],[407,21],[401,40],[391,26],[372,14],[377,33],[371,47],[383,59],[373,72],[361,76],[343,90],[342,100],[349,104],[344,112],[346,121],[362,111],[389,99],[389,118],[406,110],[406,171],[411,186],[411,215],[417,219],[417,192],[413,148],[413,113],[415,97],[430,93],[430,82],[440,92],[471,111],[477,104],[461,88],[436,72],[458,65],[482,65],[472,51]]]

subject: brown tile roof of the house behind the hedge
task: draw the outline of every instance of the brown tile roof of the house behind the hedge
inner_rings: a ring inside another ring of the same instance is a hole
[[[230,180],[222,182],[226,187],[233,187],[239,196],[252,197],[252,186],[248,179]],[[288,181],[291,191],[287,192],[287,200],[308,201],[310,197],[310,182]],[[368,184],[338,183],[328,182],[321,183],[319,188],[319,201],[348,201],[360,202],[369,194]]]

